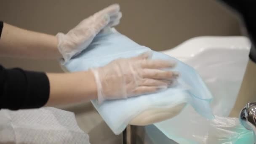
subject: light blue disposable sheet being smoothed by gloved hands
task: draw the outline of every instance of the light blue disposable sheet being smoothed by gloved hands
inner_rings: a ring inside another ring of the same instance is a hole
[[[133,42],[113,29],[108,29],[96,35],[85,51],[72,58],[63,67],[69,72],[84,71],[93,67],[102,67],[118,58],[138,56],[145,51],[151,51],[151,49]],[[189,103],[200,115],[213,118],[209,106],[212,95],[195,69],[163,53],[156,51],[152,53],[152,59],[177,62],[176,68],[172,70],[181,73],[178,85],[158,93],[105,101],[103,104],[99,104],[96,100],[91,101],[109,128],[115,134],[120,134],[133,117],[145,109],[175,107],[181,103]]]

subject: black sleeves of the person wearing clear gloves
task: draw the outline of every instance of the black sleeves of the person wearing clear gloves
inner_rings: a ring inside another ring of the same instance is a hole
[[[2,28],[3,22],[0,21],[0,37]],[[49,93],[50,84],[45,73],[19,68],[5,69],[0,65],[0,109],[43,107]]]

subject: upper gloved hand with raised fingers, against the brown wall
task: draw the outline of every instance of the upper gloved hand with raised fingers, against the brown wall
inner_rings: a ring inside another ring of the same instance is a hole
[[[121,17],[120,6],[114,4],[84,19],[67,34],[59,32],[56,37],[58,38],[58,49],[64,62],[87,48],[102,29],[119,24]]]

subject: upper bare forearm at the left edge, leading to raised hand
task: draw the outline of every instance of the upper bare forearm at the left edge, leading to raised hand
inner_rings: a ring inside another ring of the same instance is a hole
[[[57,38],[53,35],[32,32],[4,23],[0,39],[0,56],[58,59],[61,58],[61,54],[57,45]]]

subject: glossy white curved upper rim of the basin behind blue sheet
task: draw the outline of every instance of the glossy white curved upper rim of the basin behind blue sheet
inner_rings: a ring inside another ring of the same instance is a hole
[[[185,61],[207,49],[247,49],[251,47],[250,40],[244,36],[202,36],[194,37],[166,51],[160,51],[169,56]]]

